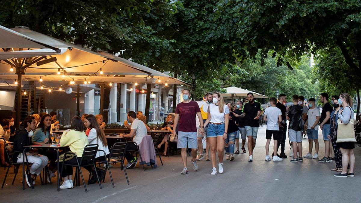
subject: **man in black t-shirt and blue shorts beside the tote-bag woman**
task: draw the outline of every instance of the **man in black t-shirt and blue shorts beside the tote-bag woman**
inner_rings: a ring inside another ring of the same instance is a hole
[[[331,158],[332,143],[330,139],[327,137],[327,135],[330,135],[330,115],[333,109],[328,101],[329,94],[324,92],[321,94],[319,99],[323,104],[321,116],[319,118],[319,123],[320,123],[319,128],[321,128],[322,130],[323,142],[325,142],[325,156],[321,160],[318,160],[318,162],[329,163],[332,162],[332,158]]]

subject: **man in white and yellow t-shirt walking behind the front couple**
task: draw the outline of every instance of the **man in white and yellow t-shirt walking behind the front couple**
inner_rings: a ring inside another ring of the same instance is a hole
[[[207,94],[205,94],[204,97],[205,97],[205,101],[198,103],[199,109],[201,111],[203,123],[205,122],[205,120],[207,120],[207,116],[208,116],[207,109],[209,107],[209,104],[212,104],[213,96],[212,96],[212,94],[210,92],[207,92]],[[196,118],[196,123],[198,124],[197,118]],[[202,134],[200,132],[201,127],[202,126],[200,124],[197,126],[197,130],[198,130],[197,139],[198,139],[198,149],[199,149],[199,155],[197,156],[197,161],[202,160],[204,158],[204,155],[203,155],[203,143],[202,143],[204,134]],[[205,126],[204,127],[205,134],[207,133],[207,129],[208,129],[208,126]],[[208,139],[206,139],[205,141],[206,141],[205,160],[209,161],[209,148],[210,147],[209,147],[209,144],[208,144]]]

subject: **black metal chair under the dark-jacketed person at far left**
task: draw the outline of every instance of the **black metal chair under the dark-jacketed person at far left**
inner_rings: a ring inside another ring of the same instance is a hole
[[[15,167],[15,170],[14,170],[15,174],[14,174],[13,182],[11,184],[14,185],[16,175],[19,172],[19,167],[20,167],[20,165],[22,165],[22,167],[23,167],[22,186],[23,186],[23,190],[25,190],[25,172],[28,171],[30,173],[30,164],[27,161],[27,155],[26,155],[26,152],[29,151],[29,148],[24,149],[23,152],[22,152],[23,153],[23,161],[22,162],[17,162],[18,159],[17,159],[17,156],[15,156],[16,153],[13,150],[8,150],[7,147],[6,147],[6,146],[11,146],[11,145],[14,145],[14,143],[12,143],[12,142],[5,143],[5,154],[6,154],[6,159],[9,160],[9,166],[8,166],[8,170],[6,170],[3,185],[1,185],[1,188],[4,188],[6,177],[8,176],[10,167],[12,165]],[[11,156],[11,159],[10,159],[10,156]],[[26,170],[25,170],[25,164],[27,166]],[[40,175],[40,179],[41,179],[41,175]],[[41,182],[43,182],[43,181],[41,180]],[[34,189],[34,185],[32,184],[32,182],[30,182],[30,185],[31,185],[31,188]]]

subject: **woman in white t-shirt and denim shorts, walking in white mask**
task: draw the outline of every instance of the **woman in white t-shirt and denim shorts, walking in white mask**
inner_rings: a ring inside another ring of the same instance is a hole
[[[225,119],[227,118],[227,119]],[[204,126],[208,126],[206,138],[210,144],[210,157],[212,160],[212,173],[217,174],[216,152],[218,152],[218,172],[223,173],[223,151],[225,139],[227,139],[227,129],[229,121],[229,109],[219,92],[213,94],[213,104],[208,107],[208,117]],[[217,151],[216,151],[217,150]]]

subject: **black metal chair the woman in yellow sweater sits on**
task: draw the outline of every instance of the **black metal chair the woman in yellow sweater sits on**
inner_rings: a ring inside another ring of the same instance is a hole
[[[82,156],[80,161],[77,159],[77,164],[76,165],[75,164],[67,164],[67,163],[65,163],[65,158],[66,158],[67,154],[73,154],[73,155],[75,155],[75,157],[77,156],[73,152],[66,152],[64,154],[64,159],[62,160],[63,163],[62,163],[62,166],[61,166],[60,174],[62,174],[62,172],[63,172],[64,165],[77,167],[77,171],[82,176],[82,181],[83,181],[83,185],[84,185],[84,189],[85,189],[86,193],[88,192],[88,190],[87,190],[87,187],[85,185],[85,181],[84,181],[84,177],[83,177],[81,167],[93,166],[94,169],[95,169],[96,178],[98,179],[99,187],[100,187],[100,189],[102,188],[100,180],[99,180],[99,175],[98,175],[98,172],[96,171],[96,166],[95,166],[95,156],[96,156],[96,152],[98,151],[98,147],[99,147],[98,144],[88,144],[87,146],[85,146],[84,151],[83,151],[83,156]],[[60,181],[60,178],[59,178],[59,181]],[[79,181],[79,179],[78,179],[78,181]],[[89,182],[89,180],[88,180],[88,182]]]

